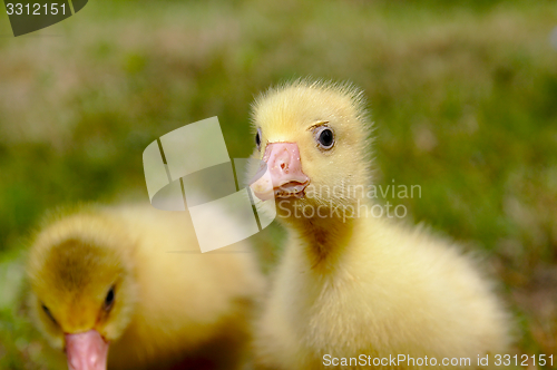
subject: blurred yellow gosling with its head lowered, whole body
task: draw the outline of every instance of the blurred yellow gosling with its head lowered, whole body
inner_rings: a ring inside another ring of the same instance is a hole
[[[70,368],[101,369],[109,343],[109,369],[235,369],[262,289],[238,246],[201,254],[187,213],[81,210],[35,240],[31,312]]]

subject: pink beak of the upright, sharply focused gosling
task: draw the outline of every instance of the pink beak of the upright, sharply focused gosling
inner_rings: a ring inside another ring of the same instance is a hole
[[[310,177],[302,172],[300,150],[295,143],[267,144],[264,165],[252,179],[250,187],[262,201],[274,197],[303,197]],[[270,176],[263,176],[268,172]]]

